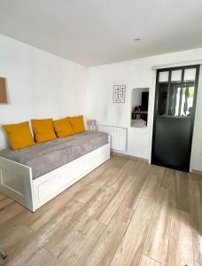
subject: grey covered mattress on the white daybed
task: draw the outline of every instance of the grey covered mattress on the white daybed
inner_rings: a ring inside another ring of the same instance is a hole
[[[71,137],[57,138],[13,151],[0,151],[0,156],[32,168],[33,179],[106,145],[106,133],[85,131]]]

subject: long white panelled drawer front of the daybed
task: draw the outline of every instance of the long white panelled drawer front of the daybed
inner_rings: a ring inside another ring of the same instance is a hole
[[[44,176],[36,178],[33,180],[35,205],[41,206],[51,200],[109,158],[110,148],[109,145],[105,145]]]

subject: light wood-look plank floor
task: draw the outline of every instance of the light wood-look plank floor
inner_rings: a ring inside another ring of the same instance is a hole
[[[0,265],[201,266],[202,176],[113,156],[34,214],[0,194]]]

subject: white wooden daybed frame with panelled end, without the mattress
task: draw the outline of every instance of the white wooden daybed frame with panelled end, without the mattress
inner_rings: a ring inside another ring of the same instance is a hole
[[[32,212],[110,159],[110,142],[43,176],[32,168],[0,157],[0,192]]]

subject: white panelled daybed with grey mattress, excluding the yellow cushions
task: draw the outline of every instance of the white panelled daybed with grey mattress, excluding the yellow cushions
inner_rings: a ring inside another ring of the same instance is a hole
[[[13,152],[11,149],[9,152],[8,149],[1,151],[0,192],[35,212],[37,208],[110,159],[110,139],[104,134],[86,131],[73,137],[34,145],[20,150],[21,152]],[[98,143],[95,138],[99,139]],[[64,164],[67,151],[71,152],[71,161]],[[21,156],[18,157],[17,153]],[[23,157],[20,153],[26,154]],[[32,153],[34,155],[31,156]],[[79,156],[81,153],[83,155]],[[72,160],[73,157],[77,158]],[[25,163],[22,163],[23,160]],[[54,165],[56,160],[60,165],[57,168]],[[49,168],[54,169],[47,172]],[[37,176],[42,171],[46,173]]]

